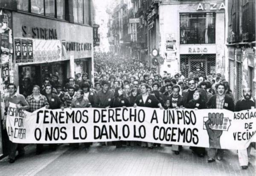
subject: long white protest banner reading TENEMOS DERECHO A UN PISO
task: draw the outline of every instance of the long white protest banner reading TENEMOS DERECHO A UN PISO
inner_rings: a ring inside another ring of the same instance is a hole
[[[145,141],[223,149],[245,149],[256,141],[256,109],[228,110],[128,108],[17,110],[6,120],[15,143]]]

